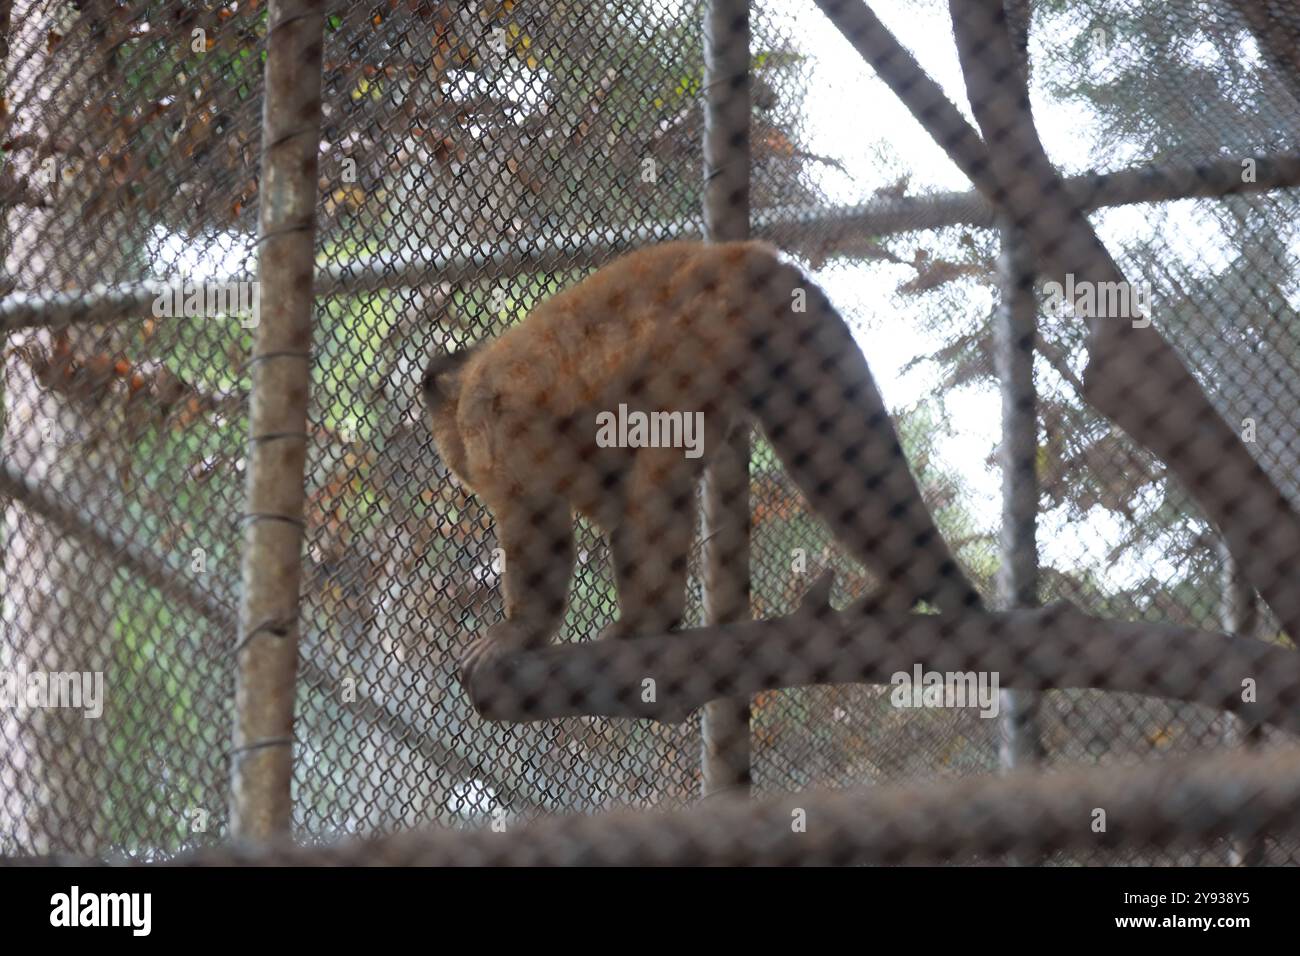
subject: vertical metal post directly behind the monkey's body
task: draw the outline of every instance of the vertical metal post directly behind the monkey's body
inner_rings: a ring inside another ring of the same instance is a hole
[[[749,0],[710,0],[705,14],[705,237],[749,238]],[[705,473],[705,614],[749,618],[749,429],[736,429]],[[705,705],[702,795],[749,791],[749,698]]]

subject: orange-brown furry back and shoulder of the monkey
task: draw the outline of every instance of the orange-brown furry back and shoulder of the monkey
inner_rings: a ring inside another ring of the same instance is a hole
[[[463,434],[491,437],[493,459],[524,470],[558,449],[586,455],[595,414],[620,403],[727,418],[740,402],[722,369],[744,367],[748,317],[768,311],[753,302],[754,277],[776,263],[760,242],[685,241],[615,260],[469,360]]]

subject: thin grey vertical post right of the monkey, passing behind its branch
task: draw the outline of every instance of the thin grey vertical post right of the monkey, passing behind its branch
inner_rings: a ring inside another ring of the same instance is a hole
[[[1034,336],[1037,299],[1034,255],[1010,224],[1001,228],[1001,302],[993,319],[993,362],[1002,393],[1002,531],[997,602],[1001,609],[1039,604],[1037,395],[1034,389]],[[1044,754],[1039,695],[1002,691],[998,756],[1004,770],[1032,767]]]

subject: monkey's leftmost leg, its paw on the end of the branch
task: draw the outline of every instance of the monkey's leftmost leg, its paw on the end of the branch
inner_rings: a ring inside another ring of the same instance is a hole
[[[462,658],[464,684],[486,661],[550,643],[564,622],[573,574],[573,519],[566,501],[514,501],[493,510],[506,553],[506,619],[489,627]]]

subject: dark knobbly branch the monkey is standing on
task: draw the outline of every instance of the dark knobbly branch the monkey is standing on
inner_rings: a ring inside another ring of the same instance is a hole
[[[919,615],[832,611],[824,575],[790,617],[621,641],[563,644],[480,665],[488,719],[642,717],[676,723],[705,701],[896,674],[997,674],[1000,688],[1093,688],[1234,710],[1300,732],[1300,653],[1171,624],[1105,620],[1072,605]],[[1244,702],[1243,680],[1256,702]]]

